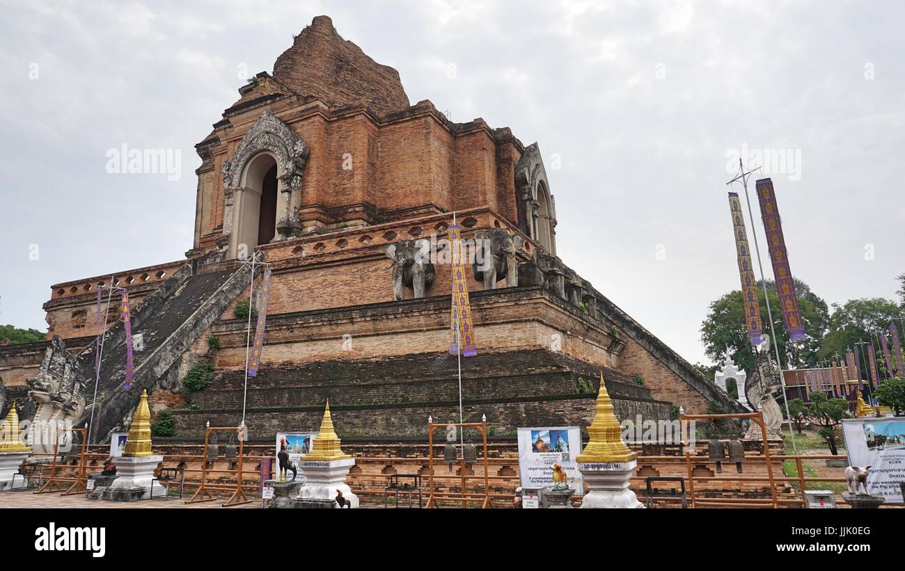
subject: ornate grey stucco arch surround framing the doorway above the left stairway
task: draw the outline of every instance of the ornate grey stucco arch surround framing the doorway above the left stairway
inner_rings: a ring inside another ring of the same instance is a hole
[[[301,229],[298,208],[302,173],[308,162],[309,147],[279,117],[270,111],[263,111],[243,137],[233,158],[224,161],[220,169],[224,178],[224,235],[220,241],[221,246],[225,247],[230,243],[235,218],[235,194],[243,191],[243,174],[252,158],[263,152],[271,154],[277,163],[277,180],[282,199],[281,208],[278,208],[277,231],[282,239],[286,239],[293,230]]]

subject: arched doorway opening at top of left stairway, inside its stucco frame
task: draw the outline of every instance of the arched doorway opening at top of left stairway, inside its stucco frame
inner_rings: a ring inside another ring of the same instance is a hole
[[[270,153],[252,157],[235,197],[235,256],[251,256],[254,248],[276,236],[277,162]]]

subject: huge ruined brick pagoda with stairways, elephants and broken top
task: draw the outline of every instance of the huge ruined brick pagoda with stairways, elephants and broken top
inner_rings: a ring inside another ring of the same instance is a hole
[[[344,440],[417,437],[426,419],[458,418],[449,355],[451,272],[415,264],[446,236],[490,244],[492,272],[469,272],[479,354],[463,360],[466,421],[494,434],[517,426],[586,426],[604,370],[619,417],[669,417],[738,405],[556,257],[556,209],[538,145],[482,119],[452,123],[410,105],[398,73],[343,40],[319,16],[196,145],[195,243],[186,259],[118,271],[140,339],[122,388],[119,310],[106,332],[94,440],[121,430],[147,389],[180,436],[242,415],[250,274],[272,268],[262,370],[250,379],[252,439],[319,426],[329,398]],[[436,253],[436,252],[433,252]],[[52,286],[48,342],[0,350],[7,392],[32,395],[24,414],[87,420],[94,388],[95,276]],[[219,349],[209,347],[216,337]],[[73,357],[74,355],[74,357]],[[214,383],[187,396],[186,370],[205,361]],[[187,400],[195,407],[187,407]]]

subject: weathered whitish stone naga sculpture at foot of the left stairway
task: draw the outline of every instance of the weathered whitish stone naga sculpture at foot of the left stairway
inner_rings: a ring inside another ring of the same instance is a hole
[[[58,335],[44,352],[38,376],[26,380],[26,385],[37,406],[28,429],[29,443],[34,454],[53,454],[56,429],[73,425],[84,412],[87,386],[79,360],[66,351]]]

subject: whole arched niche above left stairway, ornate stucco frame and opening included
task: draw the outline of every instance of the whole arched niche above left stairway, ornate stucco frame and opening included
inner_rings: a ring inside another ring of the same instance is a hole
[[[249,256],[257,246],[301,229],[298,208],[308,154],[308,145],[290,126],[262,112],[221,169],[224,235],[218,243],[227,258]]]

